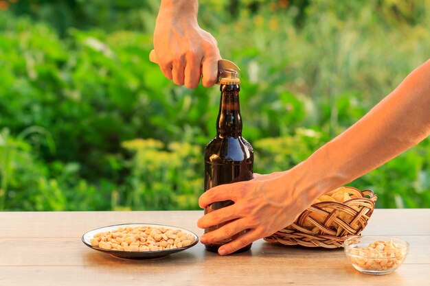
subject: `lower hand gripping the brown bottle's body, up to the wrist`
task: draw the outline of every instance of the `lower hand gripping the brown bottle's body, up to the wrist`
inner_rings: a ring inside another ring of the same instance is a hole
[[[293,223],[310,202],[307,195],[291,187],[289,176],[290,171],[277,172],[207,190],[199,199],[201,208],[224,200],[232,200],[234,204],[199,219],[199,228],[228,222],[217,230],[205,233],[201,242],[216,243],[247,230],[244,235],[219,248],[218,254],[226,255]]]

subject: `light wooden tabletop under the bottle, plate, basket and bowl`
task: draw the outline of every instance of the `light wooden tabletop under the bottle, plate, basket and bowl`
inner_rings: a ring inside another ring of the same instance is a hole
[[[168,257],[127,260],[88,248],[82,235],[121,223],[180,226],[201,235],[202,211],[0,213],[0,285],[430,285],[430,209],[376,209],[363,235],[409,241],[405,263],[361,274],[343,249],[272,245],[220,257],[201,243]]]

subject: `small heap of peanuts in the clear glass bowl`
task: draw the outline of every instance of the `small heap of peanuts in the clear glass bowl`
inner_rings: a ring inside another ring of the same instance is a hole
[[[390,239],[378,240],[365,248],[353,248],[350,251],[351,262],[364,270],[395,269],[402,263],[407,250],[399,248]]]

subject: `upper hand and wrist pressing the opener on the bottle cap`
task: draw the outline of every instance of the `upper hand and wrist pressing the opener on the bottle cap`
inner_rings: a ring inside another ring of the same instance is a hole
[[[174,84],[195,88],[216,82],[220,59],[215,38],[197,23],[197,0],[161,0],[154,31],[155,60]]]

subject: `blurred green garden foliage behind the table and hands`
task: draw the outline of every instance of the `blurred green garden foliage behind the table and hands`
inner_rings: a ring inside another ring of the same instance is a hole
[[[148,61],[158,8],[0,1],[0,210],[199,208],[220,93]],[[430,55],[426,0],[210,0],[199,23],[242,70],[260,174],[304,160]],[[377,207],[430,207],[430,139],[349,185]]]

